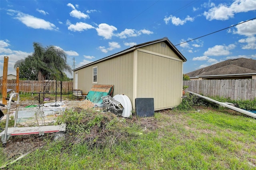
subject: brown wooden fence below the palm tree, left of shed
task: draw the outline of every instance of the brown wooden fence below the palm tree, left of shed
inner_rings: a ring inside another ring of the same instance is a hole
[[[0,80],[0,93],[2,94],[3,80]],[[62,85],[61,85],[62,84]],[[16,91],[16,80],[7,80],[7,89],[13,89]],[[19,80],[19,91],[20,92],[50,92],[60,93],[60,87],[62,87],[62,93],[68,93],[73,89],[73,81],[56,81],[56,80],[45,80],[45,81],[32,81],[32,80]]]

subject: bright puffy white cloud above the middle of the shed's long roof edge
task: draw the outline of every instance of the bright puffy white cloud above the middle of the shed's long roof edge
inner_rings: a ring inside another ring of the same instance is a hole
[[[114,26],[110,26],[108,24],[99,24],[98,28],[96,28],[96,31],[98,32],[98,36],[104,37],[104,39],[111,39],[114,35],[114,31],[116,31],[117,28]]]

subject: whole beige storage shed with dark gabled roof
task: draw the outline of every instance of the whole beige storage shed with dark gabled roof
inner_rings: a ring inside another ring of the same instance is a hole
[[[182,101],[183,62],[186,58],[162,38],[74,69],[74,89],[88,93],[94,84],[114,85],[113,96],[154,98],[154,109],[169,109]]]

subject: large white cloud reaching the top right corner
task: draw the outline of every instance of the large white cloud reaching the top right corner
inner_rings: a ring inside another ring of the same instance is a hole
[[[256,1],[234,0],[230,6],[227,4],[215,6],[214,3],[211,3],[211,7],[208,12],[204,12],[207,20],[228,20],[229,18],[233,18],[236,13],[256,10]]]

